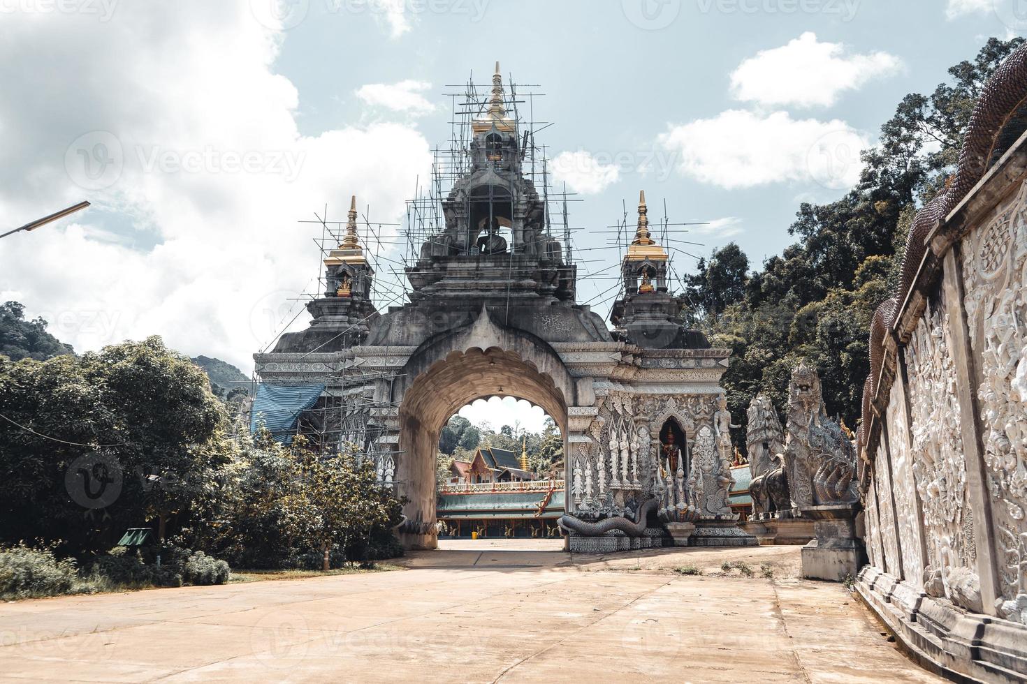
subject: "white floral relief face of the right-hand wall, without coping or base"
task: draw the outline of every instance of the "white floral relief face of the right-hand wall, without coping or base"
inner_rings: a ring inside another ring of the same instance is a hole
[[[953,238],[884,340],[865,541],[896,581],[1027,625],[1027,183]]]

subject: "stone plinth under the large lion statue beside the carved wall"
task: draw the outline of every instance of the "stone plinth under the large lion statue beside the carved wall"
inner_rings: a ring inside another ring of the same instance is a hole
[[[864,556],[855,536],[855,508],[813,506],[803,509],[802,515],[813,521],[813,538],[802,548],[802,576],[830,581],[854,578]]]

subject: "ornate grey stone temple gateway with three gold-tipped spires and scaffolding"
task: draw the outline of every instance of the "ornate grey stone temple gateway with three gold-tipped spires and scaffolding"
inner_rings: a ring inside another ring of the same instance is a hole
[[[384,312],[372,301],[354,199],[324,259],[325,289],[307,304],[310,326],[254,357],[257,412],[296,416],[278,427],[356,443],[374,458],[408,499],[398,530],[408,548],[436,544],[440,431],[494,395],[530,401],[560,428],[559,525],[571,550],[756,544],[728,505],[731,417],[719,380],[729,352],[682,327],[644,193],[611,328],[576,300],[569,233],[561,240],[553,226],[533,132],[498,65],[491,93],[467,100],[468,139],[448,165],[449,187],[415,205],[408,226],[405,300]]]

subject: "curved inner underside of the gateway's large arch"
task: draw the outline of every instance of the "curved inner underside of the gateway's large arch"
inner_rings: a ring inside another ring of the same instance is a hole
[[[512,396],[540,406],[567,443],[567,400],[551,376],[518,352],[497,347],[451,352],[418,375],[400,405],[396,493],[409,500],[404,514],[422,529],[402,536],[410,549],[433,549],[435,454],[443,426],[461,406],[490,396]]]

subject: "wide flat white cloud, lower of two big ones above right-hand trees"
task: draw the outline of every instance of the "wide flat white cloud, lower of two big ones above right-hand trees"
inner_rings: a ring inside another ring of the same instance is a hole
[[[860,177],[860,151],[870,147],[844,121],[744,110],[673,126],[658,139],[677,155],[682,173],[726,189],[810,180],[849,188]]]

